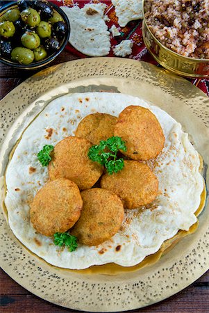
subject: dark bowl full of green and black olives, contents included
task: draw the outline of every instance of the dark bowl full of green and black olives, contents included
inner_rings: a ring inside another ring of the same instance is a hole
[[[69,32],[67,15],[55,4],[10,2],[0,10],[0,61],[26,70],[47,65],[65,48]]]

